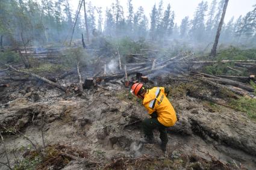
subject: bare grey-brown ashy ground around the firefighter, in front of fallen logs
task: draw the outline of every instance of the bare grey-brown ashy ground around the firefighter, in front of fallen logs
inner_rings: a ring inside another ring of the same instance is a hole
[[[73,75],[65,80],[76,82]],[[152,77],[152,81],[157,80]],[[179,117],[168,129],[167,154],[157,143],[139,145],[140,121],[149,116],[119,80],[86,90],[86,97],[65,94],[42,82],[10,83],[1,89],[0,130],[11,166],[22,169],[28,161],[36,162],[34,169],[256,168],[255,121],[200,97],[223,102],[219,91],[174,75],[147,85],[170,88],[169,99]],[[158,132],[154,134],[157,139]],[[45,148],[46,157],[33,155],[35,148],[28,139]],[[6,163],[2,142],[0,154],[0,162]],[[8,168],[0,165],[0,169]]]

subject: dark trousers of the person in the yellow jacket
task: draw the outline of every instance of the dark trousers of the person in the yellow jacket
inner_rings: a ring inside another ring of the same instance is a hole
[[[157,118],[148,118],[142,121],[142,128],[144,134],[149,138],[153,138],[153,130],[158,129],[160,132],[160,139],[164,144],[167,144],[168,137],[166,132],[166,126],[163,126]]]

